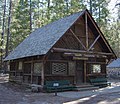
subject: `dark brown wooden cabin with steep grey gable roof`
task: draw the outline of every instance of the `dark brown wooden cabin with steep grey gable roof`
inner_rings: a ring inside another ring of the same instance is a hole
[[[32,32],[5,61],[10,81],[44,86],[50,80],[89,83],[106,77],[106,65],[116,55],[88,10]]]

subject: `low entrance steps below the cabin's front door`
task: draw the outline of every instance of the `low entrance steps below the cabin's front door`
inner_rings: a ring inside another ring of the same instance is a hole
[[[90,84],[83,84],[83,85],[77,85],[76,90],[77,91],[85,91],[85,90],[96,90],[99,89],[99,87],[90,85]]]

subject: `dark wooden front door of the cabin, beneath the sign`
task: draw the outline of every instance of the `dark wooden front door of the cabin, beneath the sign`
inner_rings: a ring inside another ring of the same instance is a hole
[[[76,61],[76,84],[82,84],[84,77],[84,61]]]

